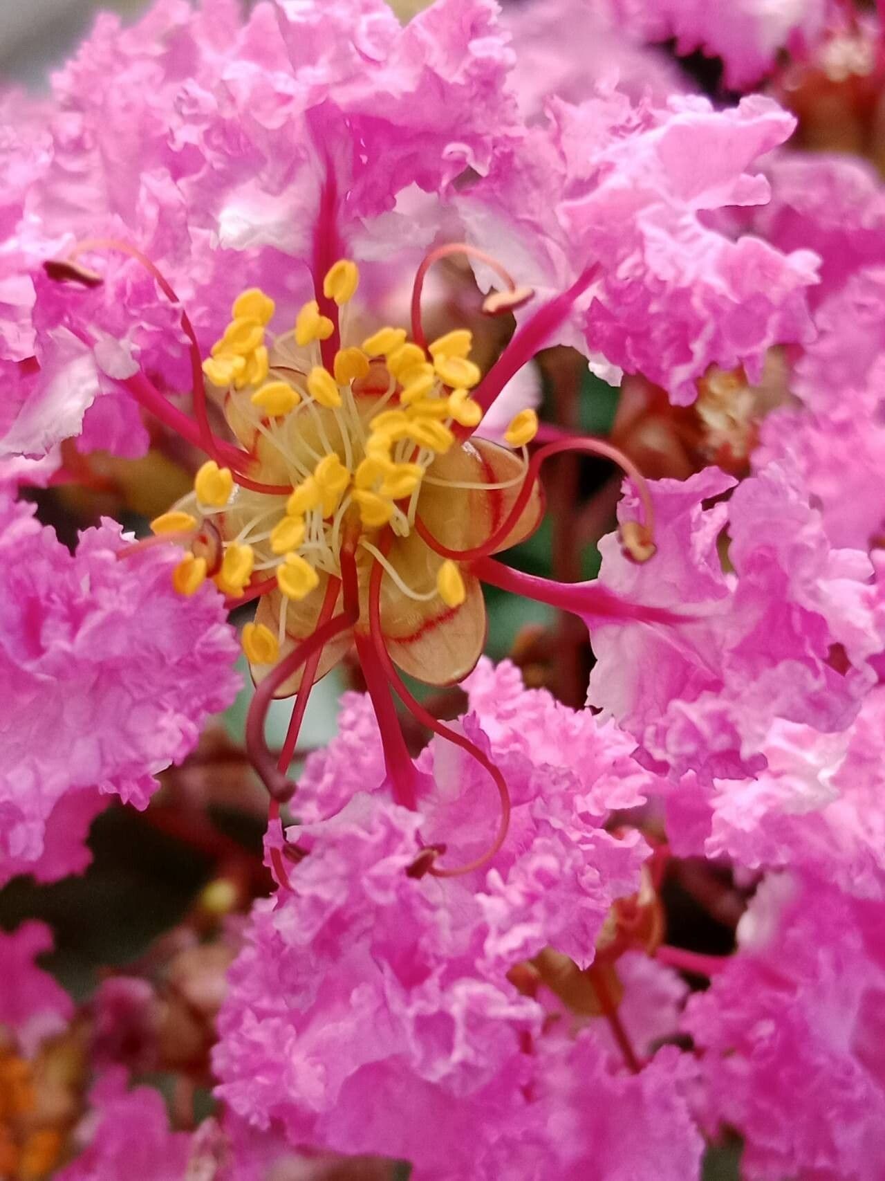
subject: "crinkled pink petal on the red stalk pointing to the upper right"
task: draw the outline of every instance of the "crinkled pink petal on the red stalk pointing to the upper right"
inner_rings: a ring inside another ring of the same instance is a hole
[[[716,112],[701,98],[631,107],[616,92],[581,106],[551,100],[548,115],[459,207],[472,239],[519,259],[536,289],[562,289],[598,263],[563,342],[594,350],[609,372],[642,372],[684,405],[709,365],[758,377],[771,345],[808,339],[814,256],[732,241],[707,223],[767,200],[765,178],[747,170],[786,139],[791,116],[759,96]]]

